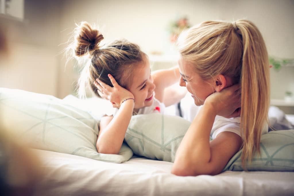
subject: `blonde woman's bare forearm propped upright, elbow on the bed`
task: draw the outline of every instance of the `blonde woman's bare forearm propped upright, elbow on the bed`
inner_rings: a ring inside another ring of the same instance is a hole
[[[201,107],[177,150],[172,173],[197,175],[195,169],[206,170],[206,164],[211,160],[209,138],[215,117],[211,105]]]

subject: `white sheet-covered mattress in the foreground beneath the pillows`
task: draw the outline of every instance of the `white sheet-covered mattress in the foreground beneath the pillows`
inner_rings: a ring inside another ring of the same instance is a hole
[[[133,157],[117,164],[36,151],[46,175],[34,195],[294,195],[294,172],[179,177],[172,163]]]

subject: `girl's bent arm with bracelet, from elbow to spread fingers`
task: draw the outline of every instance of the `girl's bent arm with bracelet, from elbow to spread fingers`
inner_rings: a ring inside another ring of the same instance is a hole
[[[98,88],[99,95],[103,98],[108,97],[113,105],[119,107],[119,110],[114,117],[105,116],[101,119],[96,148],[98,153],[118,154],[133,115],[135,103],[130,91],[119,86],[111,75],[109,78],[113,87],[99,80],[97,80],[98,83],[94,84]]]

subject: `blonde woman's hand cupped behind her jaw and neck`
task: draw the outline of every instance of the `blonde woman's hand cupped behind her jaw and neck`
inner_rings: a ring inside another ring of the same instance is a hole
[[[204,102],[211,104],[217,115],[225,118],[240,116],[241,91],[238,84],[224,88],[220,92],[212,93]]]

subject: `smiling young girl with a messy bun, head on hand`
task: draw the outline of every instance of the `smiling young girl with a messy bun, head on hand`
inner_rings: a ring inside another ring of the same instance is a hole
[[[138,45],[117,40],[100,46],[102,34],[86,22],[77,26],[74,37],[70,46],[74,56],[87,58],[78,94],[85,96],[85,83],[88,83],[97,96],[111,100],[113,107],[119,108],[113,115],[101,118],[98,153],[119,152],[134,113],[163,113],[165,103],[177,103],[185,95],[164,96],[165,88],[180,78],[178,68],[157,71],[151,76],[148,56]]]

